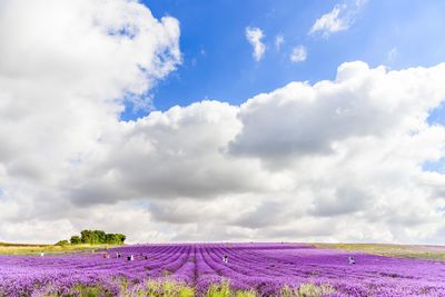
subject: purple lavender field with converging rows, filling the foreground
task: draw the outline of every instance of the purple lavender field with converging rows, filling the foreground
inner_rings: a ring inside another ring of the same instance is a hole
[[[138,245],[0,256],[0,296],[445,296],[445,263],[295,244]]]

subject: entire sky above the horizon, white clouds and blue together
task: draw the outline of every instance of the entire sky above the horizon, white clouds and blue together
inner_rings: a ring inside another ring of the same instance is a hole
[[[0,1],[0,241],[444,242],[443,11]]]

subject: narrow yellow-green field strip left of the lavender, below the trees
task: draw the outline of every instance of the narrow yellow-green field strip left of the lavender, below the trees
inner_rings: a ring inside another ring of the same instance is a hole
[[[33,244],[9,244],[0,242],[0,255],[39,255],[44,254],[67,254],[67,253],[91,253],[97,249],[112,247],[110,245],[33,245]]]

